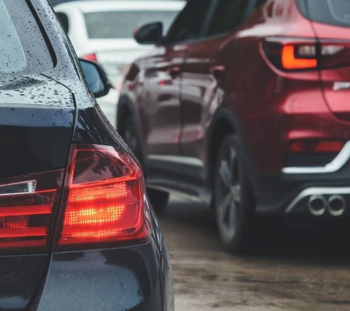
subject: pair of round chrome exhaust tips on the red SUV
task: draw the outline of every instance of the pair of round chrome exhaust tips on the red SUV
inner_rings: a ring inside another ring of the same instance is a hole
[[[347,203],[341,194],[333,194],[328,199],[323,194],[314,194],[309,199],[308,207],[314,216],[322,216],[326,211],[332,216],[341,216]]]

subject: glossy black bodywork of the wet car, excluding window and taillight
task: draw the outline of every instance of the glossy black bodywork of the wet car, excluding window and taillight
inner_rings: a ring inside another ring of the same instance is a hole
[[[0,178],[66,168],[72,142],[129,152],[96,104],[50,4],[27,3],[54,68],[0,76]],[[152,208],[150,217],[152,240],[144,245],[0,257],[0,310],[174,310],[169,258]]]

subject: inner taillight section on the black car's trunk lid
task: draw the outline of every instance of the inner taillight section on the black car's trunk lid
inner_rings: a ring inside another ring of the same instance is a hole
[[[47,251],[64,170],[1,181],[0,251]]]

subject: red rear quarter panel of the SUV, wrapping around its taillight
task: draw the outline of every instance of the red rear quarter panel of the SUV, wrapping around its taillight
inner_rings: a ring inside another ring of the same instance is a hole
[[[295,0],[269,0],[227,44],[232,61],[221,105],[239,120],[237,131],[255,174],[279,173],[288,140],[310,131],[317,135],[329,115],[317,71],[285,74],[273,68],[261,48],[268,36],[315,35]]]

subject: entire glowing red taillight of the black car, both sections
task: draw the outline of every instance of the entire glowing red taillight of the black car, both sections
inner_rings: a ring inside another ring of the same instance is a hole
[[[48,252],[52,242],[64,250],[150,240],[142,171],[123,150],[72,145],[64,173],[0,180],[0,253]]]

